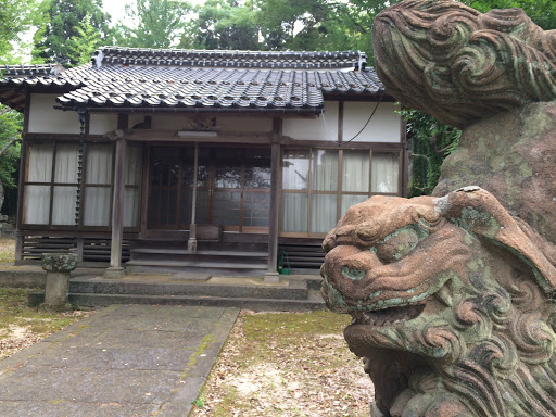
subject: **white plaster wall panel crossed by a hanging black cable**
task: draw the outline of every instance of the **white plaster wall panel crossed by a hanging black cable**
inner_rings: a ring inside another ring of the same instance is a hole
[[[343,141],[352,139],[365,126],[376,102],[344,102],[343,104]],[[380,103],[375,115],[365,129],[353,139],[354,142],[400,142],[400,110],[396,103]]]

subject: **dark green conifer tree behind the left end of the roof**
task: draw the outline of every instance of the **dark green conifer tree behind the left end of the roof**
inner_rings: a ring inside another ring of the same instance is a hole
[[[90,16],[90,25],[100,35],[101,41],[109,36],[110,15],[102,11],[102,0],[43,0],[39,8],[42,16],[33,38],[34,62],[58,62],[74,66],[70,39],[79,37],[79,23]]]

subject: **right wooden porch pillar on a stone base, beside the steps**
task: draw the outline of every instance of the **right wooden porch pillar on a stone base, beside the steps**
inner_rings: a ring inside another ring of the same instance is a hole
[[[265,282],[279,281],[276,270],[278,263],[278,218],[279,218],[279,179],[280,179],[280,143],[273,143],[270,156],[270,216],[268,224],[268,270]]]

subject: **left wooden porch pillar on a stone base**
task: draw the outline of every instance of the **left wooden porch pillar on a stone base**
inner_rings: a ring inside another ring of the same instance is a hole
[[[122,241],[124,239],[126,146],[123,135],[116,139],[114,197],[112,199],[112,240],[110,244],[110,267],[104,273],[106,278],[121,278],[125,275],[125,268],[122,267]]]

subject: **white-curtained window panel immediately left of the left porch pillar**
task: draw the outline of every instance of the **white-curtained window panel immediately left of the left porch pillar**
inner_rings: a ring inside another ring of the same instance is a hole
[[[90,187],[98,185],[104,187]],[[85,226],[109,226],[110,194],[112,185],[112,146],[89,144],[87,147]]]

